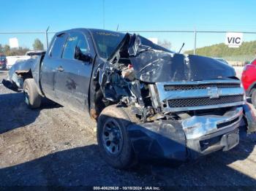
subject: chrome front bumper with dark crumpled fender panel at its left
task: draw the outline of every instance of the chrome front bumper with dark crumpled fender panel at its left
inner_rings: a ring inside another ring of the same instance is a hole
[[[132,124],[128,128],[129,137],[138,160],[185,161],[236,147],[242,116],[242,107],[237,107],[222,116]]]

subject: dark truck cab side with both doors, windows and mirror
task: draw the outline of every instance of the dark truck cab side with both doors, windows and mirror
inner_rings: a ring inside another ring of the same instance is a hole
[[[42,92],[64,106],[84,111],[95,57],[88,31],[65,31],[54,36],[41,66]],[[80,51],[80,52],[78,52]],[[79,54],[87,59],[78,58]]]

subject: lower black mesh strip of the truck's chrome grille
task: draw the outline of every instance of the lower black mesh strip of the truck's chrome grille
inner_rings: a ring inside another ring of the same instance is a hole
[[[219,98],[183,98],[183,99],[171,99],[168,100],[168,106],[172,108],[176,107],[188,107],[188,106],[212,106],[218,104],[230,104],[243,101],[243,95],[229,95],[221,96]]]

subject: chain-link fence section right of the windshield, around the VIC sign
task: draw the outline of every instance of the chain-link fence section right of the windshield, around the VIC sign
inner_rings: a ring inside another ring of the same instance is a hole
[[[123,31],[125,32],[125,31]],[[228,47],[225,44],[229,31],[128,31],[149,39],[157,39],[158,44],[182,53],[225,59],[230,65],[244,66],[256,57],[256,32],[237,31],[243,34],[240,47]],[[166,43],[170,42],[170,43]]]

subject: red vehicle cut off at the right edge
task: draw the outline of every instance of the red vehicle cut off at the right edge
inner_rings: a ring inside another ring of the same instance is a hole
[[[256,108],[256,58],[244,66],[242,83],[248,97],[252,97],[252,104]]]

